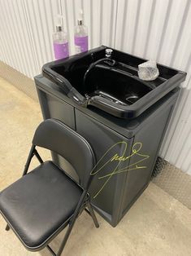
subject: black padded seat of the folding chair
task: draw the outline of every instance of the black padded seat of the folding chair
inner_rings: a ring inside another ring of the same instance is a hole
[[[83,189],[46,161],[0,193],[0,210],[28,249],[37,249],[72,216]]]

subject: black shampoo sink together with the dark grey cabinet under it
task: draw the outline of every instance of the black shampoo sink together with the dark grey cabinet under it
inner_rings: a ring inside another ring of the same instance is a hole
[[[92,205],[113,227],[150,183],[186,76],[158,64],[159,77],[141,81],[137,67],[144,61],[115,50],[106,58],[101,46],[46,64],[35,77],[44,119],[63,121],[91,144],[98,164]],[[53,159],[77,179],[62,157]]]

